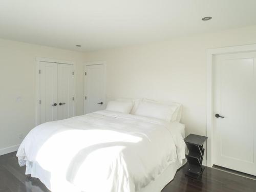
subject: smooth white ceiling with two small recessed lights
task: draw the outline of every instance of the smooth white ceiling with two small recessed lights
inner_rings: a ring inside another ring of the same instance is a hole
[[[1,0],[0,38],[92,51],[256,25],[255,8],[256,0]]]

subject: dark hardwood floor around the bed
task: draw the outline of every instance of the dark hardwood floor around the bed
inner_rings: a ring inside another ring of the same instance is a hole
[[[25,176],[25,167],[19,167],[15,154],[0,156],[0,192],[50,192],[38,179]],[[184,173],[185,168],[181,168],[162,192],[256,192],[255,180],[218,169],[206,167],[199,180],[185,177]]]

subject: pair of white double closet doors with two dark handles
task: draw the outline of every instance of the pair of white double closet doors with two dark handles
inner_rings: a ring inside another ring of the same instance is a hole
[[[73,65],[41,61],[39,69],[39,124],[73,117]]]

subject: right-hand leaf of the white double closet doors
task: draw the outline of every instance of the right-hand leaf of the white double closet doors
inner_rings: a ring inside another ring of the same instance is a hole
[[[58,63],[58,120],[74,116],[73,65]]]

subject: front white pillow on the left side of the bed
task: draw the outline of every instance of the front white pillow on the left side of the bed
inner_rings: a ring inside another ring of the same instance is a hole
[[[106,110],[129,114],[133,108],[132,101],[109,101]]]

